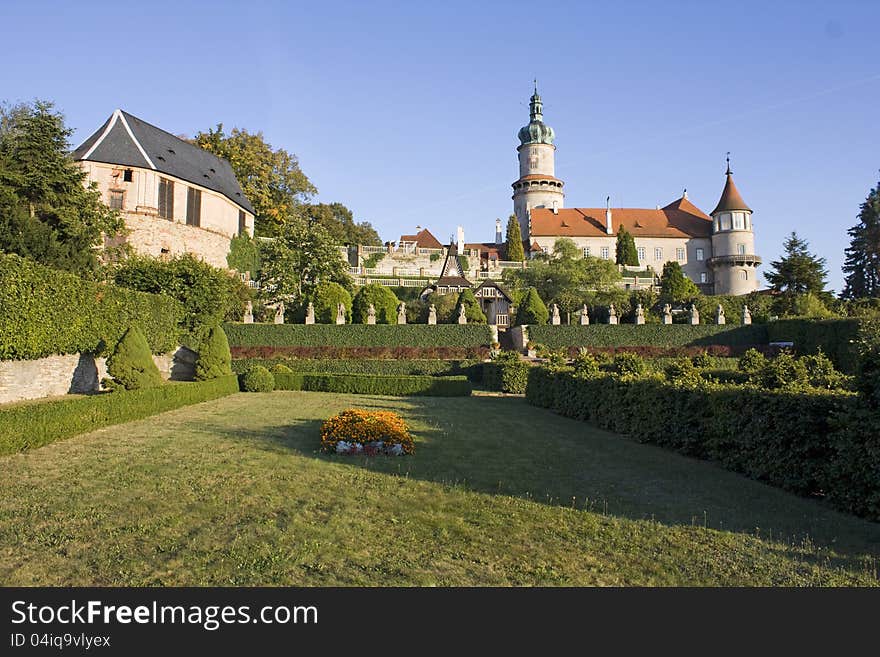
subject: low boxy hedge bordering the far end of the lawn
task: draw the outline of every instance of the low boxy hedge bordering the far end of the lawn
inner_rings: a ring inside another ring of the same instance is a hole
[[[471,383],[464,376],[382,376],[296,372],[276,373],[275,389],[358,395],[467,397],[471,394]]]

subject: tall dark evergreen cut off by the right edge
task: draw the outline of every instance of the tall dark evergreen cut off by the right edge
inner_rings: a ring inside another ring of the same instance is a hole
[[[880,297],[880,183],[868,193],[859,212],[859,223],[849,229],[843,273],[844,299]]]

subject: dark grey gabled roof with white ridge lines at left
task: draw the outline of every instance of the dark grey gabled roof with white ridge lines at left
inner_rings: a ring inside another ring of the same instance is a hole
[[[72,155],[74,160],[153,169],[223,194],[254,213],[229,162],[122,110],[114,111]]]

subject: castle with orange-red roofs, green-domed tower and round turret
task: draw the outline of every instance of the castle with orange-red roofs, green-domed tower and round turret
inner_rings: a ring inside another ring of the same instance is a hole
[[[513,209],[530,255],[553,250],[570,238],[584,256],[615,257],[620,227],[635,238],[639,265],[658,274],[674,260],[692,281],[710,294],[747,294],[758,289],[752,210],[733,182],[730,163],[721,199],[711,216],[681,198],[663,207],[564,207],[562,180],[556,177],[556,134],[544,123],[537,87],[529,104],[529,124],[518,133],[519,179],[513,183]]]

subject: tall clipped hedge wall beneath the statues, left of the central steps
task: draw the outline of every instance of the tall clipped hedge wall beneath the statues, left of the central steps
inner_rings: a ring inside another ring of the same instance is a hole
[[[225,324],[231,347],[488,347],[485,324]]]

